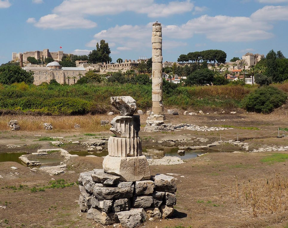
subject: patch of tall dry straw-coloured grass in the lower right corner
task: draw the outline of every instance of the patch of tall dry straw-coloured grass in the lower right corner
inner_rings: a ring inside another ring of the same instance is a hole
[[[276,172],[271,180],[249,180],[241,186],[236,178],[230,195],[250,216],[283,213],[288,210],[288,179]]]

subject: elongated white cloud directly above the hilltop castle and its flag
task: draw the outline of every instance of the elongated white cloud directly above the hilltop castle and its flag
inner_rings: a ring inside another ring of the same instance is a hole
[[[28,19],[29,20],[29,19]],[[34,23],[38,28],[72,29],[72,28],[94,28],[97,24],[93,21],[78,16],[59,16],[48,14]]]

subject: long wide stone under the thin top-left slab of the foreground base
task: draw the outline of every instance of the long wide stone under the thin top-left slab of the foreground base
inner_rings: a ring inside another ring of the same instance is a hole
[[[120,182],[116,187],[106,187],[96,183],[93,193],[100,199],[121,199],[133,196],[134,184],[132,182]]]

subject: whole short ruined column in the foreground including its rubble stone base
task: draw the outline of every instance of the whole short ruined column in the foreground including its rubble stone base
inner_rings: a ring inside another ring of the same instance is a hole
[[[120,112],[111,121],[115,136],[108,140],[103,170],[80,174],[80,210],[105,226],[135,227],[148,218],[168,218],[176,204],[176,180],[162,174],[151,177],[138,136],[140,116],[133,115],[136,101],[130,96],[110,101]]]

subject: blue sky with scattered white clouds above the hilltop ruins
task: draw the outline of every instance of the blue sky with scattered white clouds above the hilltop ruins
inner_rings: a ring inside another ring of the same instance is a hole
[[[87,54],[105,39],[113,61],[151,57],[162,24],[163,61],[221,49],[232,57],[271,49],[288,57],[288,0],[0,0],[0,64],[12,52]]]

